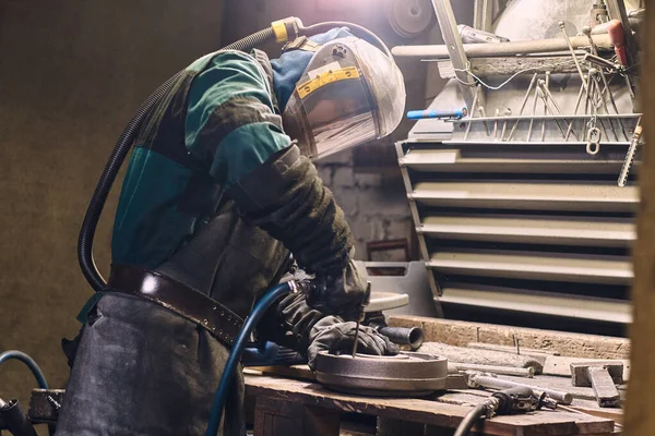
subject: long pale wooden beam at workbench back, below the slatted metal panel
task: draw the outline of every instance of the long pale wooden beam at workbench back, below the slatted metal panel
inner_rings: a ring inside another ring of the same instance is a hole
[[[480,342],[513,346],[513,338],[515,337],[519,339],[521,347],[555,351],[561,355],[575,358],[629,359],[630,356],[630,340],[623,338],[422,316],[390,316],[388,323],[394,327],[420,327],[425,332],[426,341],[443,342],[457,347],[466,347],[469,342],[477,342],[479,334]]]

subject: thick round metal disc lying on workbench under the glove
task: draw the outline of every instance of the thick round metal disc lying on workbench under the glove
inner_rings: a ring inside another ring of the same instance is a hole
[[[445,387],[448,361],[432,354],[330,354],[317,356],[317,379],[347,393],[376,397],[427,396]]]

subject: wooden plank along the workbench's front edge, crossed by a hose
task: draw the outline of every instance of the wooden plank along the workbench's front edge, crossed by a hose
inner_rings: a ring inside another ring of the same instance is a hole
[[[307,382],[269,376],[246,376],[248,395],[293,401],[344,412],[365,413],[434,426],[456,427],[471,408],[438,401],[398,398],[366,398],[332,392]],[[474,427],[488,435],[556,436],[608,433],[614,422],[564,412],[537,412],[520,416],[497,416]]]

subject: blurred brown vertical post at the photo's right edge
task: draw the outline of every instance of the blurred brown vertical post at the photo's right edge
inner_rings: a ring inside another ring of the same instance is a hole
[[[655,141],[655,82],[648,77],[655,68],[655,10],[646,12],[642,41],[642,105],[645,143]],[[653,123],[651,123],[653,122]],[[626,404],[626,435],[650,435],[655,429],[653,392],[655,392],[655,149],[643,147],[640,169],[641,205],[638,217],[638,240],[634,246],[634,287],[632,302],[634,320],[631,326],[632,376]]]

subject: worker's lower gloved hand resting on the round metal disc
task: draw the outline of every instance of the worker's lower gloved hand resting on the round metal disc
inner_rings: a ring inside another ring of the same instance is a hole
[[[355,343],[357,323],[343,322],[336,316],[326,316],[311,329],[307,360],[312,371],[320,351],[350,353]],[[359,326],[357,352],[374,355],[395,355],[398,348],[389,338],[367,326]]]

